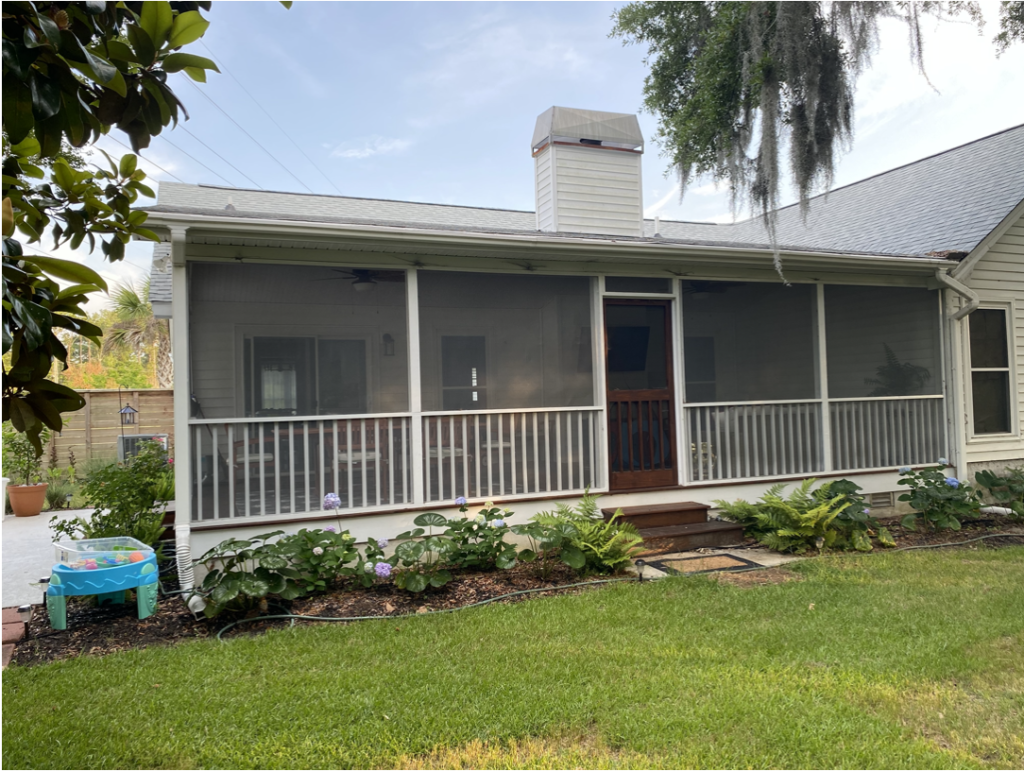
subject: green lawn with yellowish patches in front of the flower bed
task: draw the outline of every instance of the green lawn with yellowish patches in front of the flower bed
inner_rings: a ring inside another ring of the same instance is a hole
[[[3,767],[1024,766],[1024,549],[794,570],[15,666]]]

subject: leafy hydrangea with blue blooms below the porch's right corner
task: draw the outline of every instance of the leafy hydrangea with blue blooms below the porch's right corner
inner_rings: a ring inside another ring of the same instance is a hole
[[[967,482],[946,476],[946,467],[945,459],[940,458],[937,465],[918,471],[900,469],[898,484],[909,489],[899,500],[914,510],[900,520],[907,529],[918,529],[918,520],[924,520],[933,530],[958,530],[962,520],[978,515],[981,495]]]

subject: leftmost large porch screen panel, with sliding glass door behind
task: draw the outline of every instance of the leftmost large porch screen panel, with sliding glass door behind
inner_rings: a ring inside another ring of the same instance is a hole
[[[195,263],[189,282],[202,417],[409,410],[404,271]]]

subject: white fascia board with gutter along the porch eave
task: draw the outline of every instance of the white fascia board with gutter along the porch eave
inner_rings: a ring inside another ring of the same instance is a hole
[[[339,235],[368,240],[397,240],[407,243],[450,244],[463,248],[506,247],[509,249],[547,249],[554,252],[563,251],[597,251],[613,252],[618,257],[629,259],[679,259],[699,256],[715,256],[723,261],[738,264],[744,262],[761,262],[771,260],[771,249],[757,247],[729,246],[697,246],[688,244],[641,243],[635,241],[618,241],[614,237],[603,238],[553,238],[546,233],[477,233],[461,230],[435,230],[420,227],[395,227],[388,225],[355,225],[339,222],[293,222],[291,220],[257,219],[238,217],[202,216],[195,214],[173,214],[168,212],[152,212],[146,220],[153,228],[173,227],[188,224],[196,231],[220,231],[231,235],[247,234],[250,238],[290,238],[293,240],[337,241]],[[396,238],[397,237],[397,238]],[[909,272],[934,273],[936,268],[950,268],[949,260],[929,257],[898,257],[892,255],[843,254],[836,252],[787,251],[780,254],[794,262],[814,262],[818,265],[849,266],[852,264],[877,264],[906,268]],[[521,255],[520,255],[521,256]]]

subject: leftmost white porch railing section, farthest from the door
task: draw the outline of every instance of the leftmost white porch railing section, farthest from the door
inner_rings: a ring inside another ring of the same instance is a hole
[[[196,420],[193,520],[409,504],[411,417]]]

